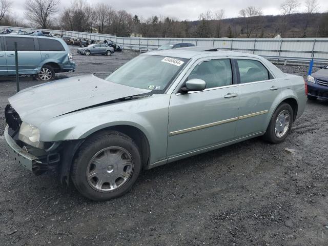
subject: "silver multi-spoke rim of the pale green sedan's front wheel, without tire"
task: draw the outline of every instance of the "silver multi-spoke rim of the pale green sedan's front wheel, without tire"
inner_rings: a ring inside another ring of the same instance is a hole
[[[131,154],[121,147],[109,147],[100,150],[91,158],[86,176],[94,190],[112,192],[124,185],[132,173]]]

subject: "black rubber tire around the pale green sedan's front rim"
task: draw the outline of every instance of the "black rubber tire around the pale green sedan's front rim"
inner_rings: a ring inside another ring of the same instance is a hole
[[[120,147],[127,150],[132,157],[133,171],[129,179],[118,188],[113,191],[101,192],[90,185],[87,179],[87,168],[96,153],[109,147]],[[140,152],[134,141],[129,136],[117,131],[101,131],[88,138],[78,149],[72,164],[71,178],[76,189],[83,196],[95,201],[105,201],[128,192],[135,183],[140,170]]]

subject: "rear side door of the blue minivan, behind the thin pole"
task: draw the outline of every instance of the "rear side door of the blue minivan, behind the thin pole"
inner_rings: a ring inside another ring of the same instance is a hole
[[[19,74],[35,74],[41,63],[36,37],[4,37],[8,75],[16,73],[14,43],[17,42]]]

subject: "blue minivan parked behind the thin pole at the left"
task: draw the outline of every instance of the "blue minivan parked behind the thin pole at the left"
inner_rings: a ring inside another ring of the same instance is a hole
[[[56,73],[75,71],[70,49],[63,39],[31,36],[0,35],[0,75],[15,75],[14,44],[17,43],[20,75],[32,75],[48,81]]]

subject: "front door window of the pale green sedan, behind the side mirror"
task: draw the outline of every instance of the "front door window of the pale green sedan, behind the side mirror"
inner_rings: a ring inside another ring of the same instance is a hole
[[[232,85],[232,69],[230,59],[203,61],[188,76],[188,80],[199,78],[206,82],[206,88]]]

